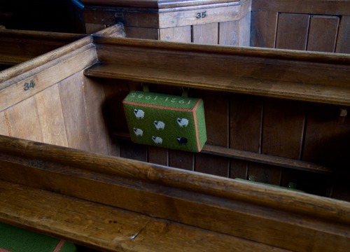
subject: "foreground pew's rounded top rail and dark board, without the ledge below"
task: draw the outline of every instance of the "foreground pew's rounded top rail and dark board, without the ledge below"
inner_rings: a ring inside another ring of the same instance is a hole
[[[0,139],[11,142],[0,144],[2,179],[293,251],[309,246],[346,251],[349,246],[350,206],[346,202],[59,146]],[[50,183],[29,179],[38,177],[50,177]]]

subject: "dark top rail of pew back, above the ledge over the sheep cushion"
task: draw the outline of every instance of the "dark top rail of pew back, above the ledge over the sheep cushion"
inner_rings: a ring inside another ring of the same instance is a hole
[[[94,37],[99,61],[265,80],[349,85],[349,55]],[[225,56],[224,56],[225,55]],[[337,77],[335,77],[337,76]]]

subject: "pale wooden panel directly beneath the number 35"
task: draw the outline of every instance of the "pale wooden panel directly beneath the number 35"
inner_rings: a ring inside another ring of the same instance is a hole
[[[218,23],[193,25],[193,43],[218,43]]]

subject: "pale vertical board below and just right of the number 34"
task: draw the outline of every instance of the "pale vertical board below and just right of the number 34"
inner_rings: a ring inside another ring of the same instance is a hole
[[[68,146],[58,85],[39,92],[34,98],[43,132],[43,142]]]

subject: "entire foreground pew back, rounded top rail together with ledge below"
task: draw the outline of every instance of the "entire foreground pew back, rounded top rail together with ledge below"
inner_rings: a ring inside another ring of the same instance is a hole
[[[10,137],[0,137],[0,153],[0,179],[10,181],[0,183],[0,221],[85,246],[205,251],[217,239],[218,251],[349,247],[347,202]],[[211,239],[204,247],[193,234]],[[162,245],[152,245],[155,235]]]

